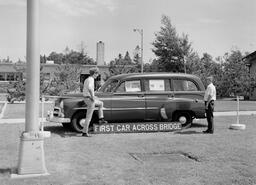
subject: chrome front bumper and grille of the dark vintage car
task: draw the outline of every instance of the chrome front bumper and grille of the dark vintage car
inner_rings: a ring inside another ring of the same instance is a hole
[[[61,112],[61,108],[54,107],[53,111],[47,112],[46,120],[49,122],[56,122],[56,123],[70,123],[70,118],[65,118],[64,114]]]

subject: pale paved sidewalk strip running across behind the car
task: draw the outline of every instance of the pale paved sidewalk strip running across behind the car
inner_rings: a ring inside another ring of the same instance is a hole
[[[214,116],[236,116],[236,111],[228,111],[228,112],[214,112]],[[256,115],[256,111],[239,111],[239,115]],[[47,122],[45,118],[41,119],[40,122]],[[0,119],[0,124],[15,124],[15,123],[25,123],[25,118],[19,119]]]

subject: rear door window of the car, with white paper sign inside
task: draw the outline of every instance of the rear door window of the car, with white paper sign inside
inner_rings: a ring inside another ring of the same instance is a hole
[[[145,80],[145,90],[148,92],[170,91],[170,81],[168,79],[149,79]]]

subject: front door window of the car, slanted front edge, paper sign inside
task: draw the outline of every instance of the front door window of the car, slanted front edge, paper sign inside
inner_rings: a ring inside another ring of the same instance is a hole
[[[122,82],[116,92],[141,92],[140,80],[129,80]]]

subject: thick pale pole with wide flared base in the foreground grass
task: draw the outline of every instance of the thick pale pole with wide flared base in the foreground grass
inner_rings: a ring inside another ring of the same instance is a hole
[[[45,166],[43,134],[39,132],[40,0],[27,0],[27,72],[26,72],[26,124],[21,134],[17,174],[11,177],[48,175]]]

